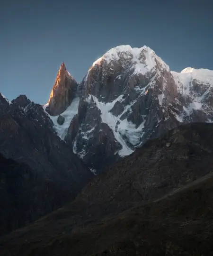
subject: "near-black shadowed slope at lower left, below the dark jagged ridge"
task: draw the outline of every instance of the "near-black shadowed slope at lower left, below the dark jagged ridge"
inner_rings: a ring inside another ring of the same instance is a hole
[[[57,209],[66,188],[44,178],[29,166],[0,155],[0,235],[26,226]]]

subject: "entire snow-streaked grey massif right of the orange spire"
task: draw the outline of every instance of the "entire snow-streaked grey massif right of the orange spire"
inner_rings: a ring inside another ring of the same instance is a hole
[[[99,173],[180,124],[212,122],[212,95],[213,71],[172,72],[148,46],[117,46],[93,63],[71,105],[50,118],[58,136]]]

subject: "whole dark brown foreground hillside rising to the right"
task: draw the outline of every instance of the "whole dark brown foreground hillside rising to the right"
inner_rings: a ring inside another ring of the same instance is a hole
[[[70,204],[1,237],[1,255],[212,255],[212,140],[210,123],[149,140]]]

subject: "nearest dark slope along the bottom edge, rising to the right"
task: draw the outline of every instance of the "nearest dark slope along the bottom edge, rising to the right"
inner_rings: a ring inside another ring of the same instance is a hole
[[[27,251],[32,256],[211,256],[212,213],[211,175],[160,201],[139,205],[96,225],[56,237],[45,246],[27,243],[20,255],[28,255]],[[9,246],[6,242],[2,247],[3,256]]]

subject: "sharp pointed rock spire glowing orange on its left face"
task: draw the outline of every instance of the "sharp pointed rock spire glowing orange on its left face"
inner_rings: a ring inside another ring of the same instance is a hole
[[[78,83],[67,71],[65,64],[62,63],[57,73],[46,111],[52,116],[60,115],[70,106],[75,97],[77,86]]]

